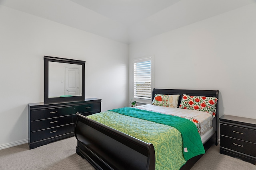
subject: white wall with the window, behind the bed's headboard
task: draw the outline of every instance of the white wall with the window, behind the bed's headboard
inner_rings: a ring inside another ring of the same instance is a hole
[[[256,119],[256,3],[157,35],[129,47],[154,55],[154,87],[220,90],[219,112]]]

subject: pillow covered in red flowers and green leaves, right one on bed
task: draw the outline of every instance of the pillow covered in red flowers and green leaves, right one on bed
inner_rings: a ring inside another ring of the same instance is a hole
[[[212,114],[212,117],[215,117],[217,100],[218,98],[215,97],[189,96],[183,94],[179,108],[205,111]]]

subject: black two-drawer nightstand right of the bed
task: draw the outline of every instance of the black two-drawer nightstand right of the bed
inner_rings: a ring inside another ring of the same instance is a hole
[[[256,119],[220,117],[220,153],[256,164]]]

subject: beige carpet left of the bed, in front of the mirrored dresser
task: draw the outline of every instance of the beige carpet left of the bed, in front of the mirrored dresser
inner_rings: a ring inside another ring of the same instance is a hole
[[[29,150],[28,144],[0,150],[0,170],[94,170],[76,154],[75,137]]]

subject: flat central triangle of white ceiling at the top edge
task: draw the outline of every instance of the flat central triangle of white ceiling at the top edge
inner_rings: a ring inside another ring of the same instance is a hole
[[[132,25],[180,0],[71,0],[124,25]]]

